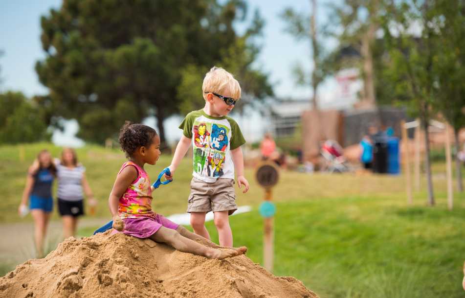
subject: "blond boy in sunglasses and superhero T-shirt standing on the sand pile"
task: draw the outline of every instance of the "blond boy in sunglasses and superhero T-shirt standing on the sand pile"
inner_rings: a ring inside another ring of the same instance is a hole
[[[213,67],[203,79],[202,91],[205,107],[187,114],[179,125],[183,136],[177,144],[169,166],[171,176],[167,179],[173,178],[180,160],[192,146],[194,178],[187,203],[192,228],[196,234],[210,239],[205,215],[213,211],[220,245],[232,247],[229,215],[237,210],[234,170],[239,188],[244,185],[244,193],[249,189],[241,150],[244,136],[236,121],[227,117],[241,97],[241,86],[232,74]]]

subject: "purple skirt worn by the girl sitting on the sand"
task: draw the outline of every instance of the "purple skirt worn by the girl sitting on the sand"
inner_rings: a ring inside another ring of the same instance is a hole
[[[158,213],[155,217],[141,216],[138,218],[125,218],[123,219],[123,222],[124,230],[121,231],[121,233],[137,238],[149,238],[162,226],[168,229],[177,229],[177,227],[179,227],[178,224]],[[117,230],[113,229],[111,234],[115,234],[117,232]]]

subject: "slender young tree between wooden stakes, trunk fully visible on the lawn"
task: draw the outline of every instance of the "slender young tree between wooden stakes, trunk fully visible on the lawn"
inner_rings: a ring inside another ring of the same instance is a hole
[[[384,41],[389,50],[389,78],[395,83],[393,92],[408,107],[413,115],[421,119],[425,131],[425,169],[428,183],[428,203],[435,204],[431,179],[428,126],[433,116],[432,107],[436,100],[433,88],[437,84],[434,73],[435,57],[442,50],[438,43],[438,27],[434,8],[430,1],[413,0],[397,4],[387,3],[382,16]],[[412,28],[420,27],[418,36]]]

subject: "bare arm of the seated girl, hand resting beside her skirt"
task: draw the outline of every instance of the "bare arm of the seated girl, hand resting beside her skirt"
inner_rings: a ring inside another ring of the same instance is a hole
[[[121,198],[123,193],[136,178],[137,170],[135,167],[125,167],[118,176],[116,176],[116,180],[108,198],[108,206],[110,207],[110,212],[113,217],[113,228],[119,231],[124,229],[123,221],[118,215],[119,198]]]

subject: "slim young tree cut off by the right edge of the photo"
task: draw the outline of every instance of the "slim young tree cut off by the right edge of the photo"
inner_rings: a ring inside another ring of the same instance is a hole
[[[434,63],[438,82],[434,85],[437,98],[434,106],[453,127],[455,149],[459,152],[459,130],[465,126],[461,111],[465,107],[465,2],[437,0],[434,8],[442,47]],[[458,155],[455,160],[457,188],[462,192],[462,165]]]

